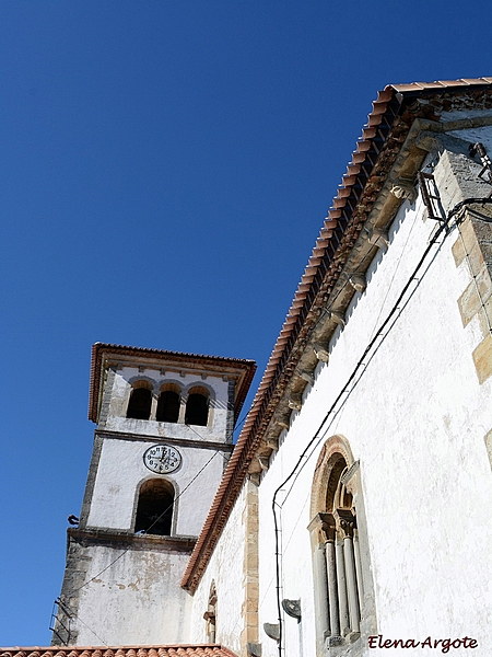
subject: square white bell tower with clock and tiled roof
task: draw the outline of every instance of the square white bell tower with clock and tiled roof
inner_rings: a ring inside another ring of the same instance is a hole
[[[253,360],[96,343],[96,423],[54,645],[184,643],[179,587],[233,450]]]

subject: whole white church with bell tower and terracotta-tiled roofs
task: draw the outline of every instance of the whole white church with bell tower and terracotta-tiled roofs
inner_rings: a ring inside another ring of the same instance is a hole
[[[236,445],[251,360],[94,345],[52,646],[4,657],[490,657],[491,157],[492,78],[378,93]]]

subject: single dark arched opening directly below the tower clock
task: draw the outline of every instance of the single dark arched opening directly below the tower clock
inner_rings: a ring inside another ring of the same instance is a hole
[[[171,535],[174,487],[166,480],[153,479],[140,486],[137,506],[136,533],[144,531],[161,537]]]

